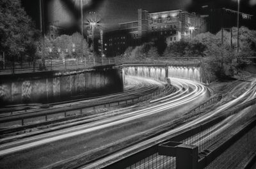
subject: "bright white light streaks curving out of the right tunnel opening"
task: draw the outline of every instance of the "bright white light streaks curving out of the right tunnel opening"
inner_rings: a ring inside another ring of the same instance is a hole
[[[195,99],[204,96],[207,92],[207,87],[198,82],[192,82],[191,80],[183,80],[179,78],[172,78],[172,83],[177,88],[185,87],[185,91],[181,90],[181,93],[177,93],[179,98],[170,94],[170,98],[165,98],[164,100],[159,100],[158,102],[152,104],[151,107],[143,108],[142,110],[136,110],[132,112],[128,112],[123,115],[117,115],[115,117],[110,117],[108,119],[104,119],[99,122],[93,122],[93,124],[86,124],[77,126],[73,129],[65,129],[64,131],[57,131],[51,133],[50,138],[44,138],[42,136],[42,140],[38,140],[35,142],[24,143],[22,145],[18,145],[15,147],[10,147],[4,149],[4,146],[1,146],[0,156],[4,156],[6,154],[10,154],[17,151],[23,151],[26,149],[30,149],[31,147],[36,147],[38,145],[44,145],[46,143],[56,142],[58,140],[62,140],[65,138],[70,138],[77,135],[84,135],[86,133],[91,133],[93,131],[97,131],[99,129],[111,128],[113,126],[117,126],[118,124],[123,124],[124,122],[131,122],[136,119],[140,119],[142,117],[146,117],[148,115],[158,114],[159,112],[163,112],[165,110],[170,110],[171,108],[180,107],[194,101]],[[189,92],[191,91],[191,92]],[[172,97],[173,96],[173,97]],[[55,136],[54,136],[55,135]],[[46,135],[47,136],[47,135]]]

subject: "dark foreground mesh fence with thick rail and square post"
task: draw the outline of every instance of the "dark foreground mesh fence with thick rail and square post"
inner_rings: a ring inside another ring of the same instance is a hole
[[[250,168],[256,153],[256,99],[105,168]]]

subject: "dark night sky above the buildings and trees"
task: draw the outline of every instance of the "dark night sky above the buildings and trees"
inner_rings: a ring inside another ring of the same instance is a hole
[[[39,0],[22,0],[27,13],[33,18],[39,28]],[[80,31],[81,14],[79,0],[44,0],[45,26],[49,22],[58,21],[66,33]],[[137,20],[137,10],[142,8],[149,12],[167,10],[186,10],[200,13],[203,5],[212,8],[230,8],[237,10],[237,0],[83,0],[84,20],[89,11],[96,11],[101,18],[100,29],[116,29],[120,22]],[[256,0],[241,0],[241,11],[256,16]]]

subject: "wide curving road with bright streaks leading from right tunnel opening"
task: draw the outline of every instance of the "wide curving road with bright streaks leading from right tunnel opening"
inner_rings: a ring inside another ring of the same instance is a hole
[[[152,101],[140,110],[127,108],[114,117],[97,122],[1,145],[0,165],[3,168],[45,168],[79,154],[94,152],[100,147],[115,145],[182,117],[209,97],[207,87],[197,82],[173,78],[172,84],[177,92]]]

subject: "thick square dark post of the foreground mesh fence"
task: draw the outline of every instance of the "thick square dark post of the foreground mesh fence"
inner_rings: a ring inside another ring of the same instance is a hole
[[[177,147],[177,169],[198,168],[198,147],[196,145],[182,144]]]

